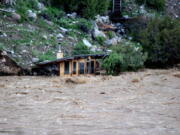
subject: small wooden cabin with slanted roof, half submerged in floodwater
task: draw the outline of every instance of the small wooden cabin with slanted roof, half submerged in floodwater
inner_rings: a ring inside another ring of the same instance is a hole
[[[60,57],[63,55],[59,54]],[[77,55],[67,58],[59,58],[55,61],[37,64],[39,69],[46,69],[48,74],[59,76],[77,76],[95,74],[100,68],[97,59],[104,59],[106,54]]]

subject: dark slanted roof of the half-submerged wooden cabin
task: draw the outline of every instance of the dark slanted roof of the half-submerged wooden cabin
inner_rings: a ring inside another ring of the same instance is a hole
[[[37,66],[44,66],[44,65],[49,65],[49,64],[56,64],[59,62],[63,62],[63,61],[69,61],[69,60],[76,60],[76,59],[81,59],[81,58],[88,58],[88,57],[92,57],[94,59],[103,59],[106,56],[108,56],[108,54],[87,54],[87,55],[75,55],[72,57],[64,57],[61,59],[57,59],[57,60],[53,60],[53,61],[45,61],[45,62],[41,62],[36,64]]]

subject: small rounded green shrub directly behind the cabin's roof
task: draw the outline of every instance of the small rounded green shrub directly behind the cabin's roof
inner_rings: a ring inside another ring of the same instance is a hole
[[[81,54],[91,54],[91,51],[86,45],[84,45],[82,42],[79,42],[73,48],[72,55],[81,55]]]

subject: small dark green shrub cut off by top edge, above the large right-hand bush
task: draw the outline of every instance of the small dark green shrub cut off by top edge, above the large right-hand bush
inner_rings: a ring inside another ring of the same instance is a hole
[[[150,8],[156,10],[163,10],[166,4],[166,0],[136,0],[139,4],[146,4]]]

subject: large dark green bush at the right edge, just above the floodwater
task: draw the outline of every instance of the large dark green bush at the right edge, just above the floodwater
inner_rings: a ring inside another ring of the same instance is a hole
[[[169,17],[150,20],[140,32],[139,41],[148,52],[149,66],[168,66],[180,62],[180,22]]]

